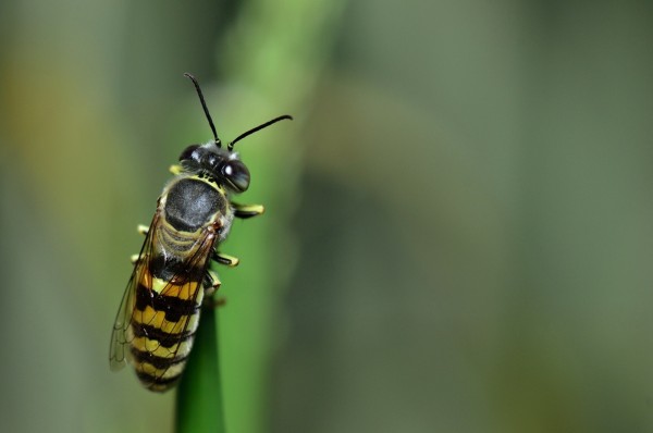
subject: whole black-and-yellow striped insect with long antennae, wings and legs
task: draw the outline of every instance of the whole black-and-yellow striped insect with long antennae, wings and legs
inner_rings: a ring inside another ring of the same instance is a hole
[[[238,264],[238,259],[217,249],[234,216],[246,219],[263,212],[260,205],[231,201],[231,195],[247,190],[250,181],[234,145],[273,123],[293,119],[272,119],[224,148],[197,79],[184,75],[195,85],[213,139],[182,152],[180,163],[171,166],[175,176],[164,186],[151,224],[139,226],[146,238],[133,259],[134,271],[113,324],[109,354],[112,370],[128,361],[143,385],[158,392],[169,389],[182,375],[202,302],[220,287],[211,261]]]

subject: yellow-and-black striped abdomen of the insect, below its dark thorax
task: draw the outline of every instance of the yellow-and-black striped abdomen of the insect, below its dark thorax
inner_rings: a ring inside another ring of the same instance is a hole
[[[132,363],[152,391],[165,391],[178,380],[193,347],[214,243],[208,232],[178,232],[162,221],[157,230],[160,249],[147,259],[136,287],[128,331]]]

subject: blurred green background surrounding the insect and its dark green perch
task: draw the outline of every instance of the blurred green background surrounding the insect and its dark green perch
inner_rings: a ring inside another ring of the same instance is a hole
[[[0,431],[172,431],[111,324],[202,84],[227,430],[653,431],[653,3],[0,4]]]

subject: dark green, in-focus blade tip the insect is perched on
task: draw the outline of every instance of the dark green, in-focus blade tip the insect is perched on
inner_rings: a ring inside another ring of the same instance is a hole
[[[218,308],[206,308],[176,391],[175,432],[224,433],[218,349]]]

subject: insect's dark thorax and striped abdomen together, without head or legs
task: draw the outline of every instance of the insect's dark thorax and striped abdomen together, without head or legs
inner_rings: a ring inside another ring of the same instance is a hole
[[[168,389],[184,371],[226,206],[220,191],[195,178],[182,178],[163,191],[128,330],[132,363],[152,391]]]

